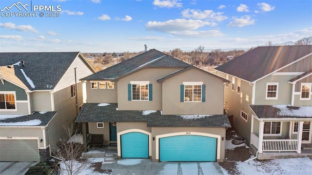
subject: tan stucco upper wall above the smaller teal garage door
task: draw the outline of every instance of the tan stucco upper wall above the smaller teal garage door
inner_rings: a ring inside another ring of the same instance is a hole
[[[177,71],[178,68],[144,68],[126,77],[118,79],[118,110],[161,110],[162,87],[157,79]],[[128,101],[130,81],[150,81],[153,84],[152,101]]]

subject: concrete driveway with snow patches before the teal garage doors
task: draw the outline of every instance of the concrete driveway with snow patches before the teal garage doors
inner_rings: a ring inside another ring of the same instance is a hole
[[[151,159],[119,159],[103,163],[112,175],[223,175],[216,162],[152,162]]]

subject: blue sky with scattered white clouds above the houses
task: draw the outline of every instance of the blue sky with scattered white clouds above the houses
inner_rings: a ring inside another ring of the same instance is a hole
[[[21,10],[18,2],[0,1],[0,52],[249,49],[312,36],[312,0],[20,0]]]

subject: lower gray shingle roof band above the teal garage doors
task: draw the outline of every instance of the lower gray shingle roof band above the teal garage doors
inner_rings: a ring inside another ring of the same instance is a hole
[[[147,122],[147,127],[231,127],[226,115],[162,115],[161,111],[117,110],[117,103],[85,103],[76,122]]]

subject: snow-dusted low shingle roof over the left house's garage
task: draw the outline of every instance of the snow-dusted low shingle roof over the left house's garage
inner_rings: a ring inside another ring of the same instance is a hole
[[[28,116],[21,116],[21,117],[14,117],[14,118],[6,118],[6,119],[0,119],[0,126],[7,126],[2,123],[16,123],[16,122],[25,122],[30,121],[34,119],[39,119],[41,123],[39,125],[30,125],[30,126],[46,126],[49,121],[55,116],[57,112],[45,112],[40,114],[39,112],[33,112],[31,115]],[[27,126],[27,125],[21,125],[19,123],[10,124],[9,126]]]

